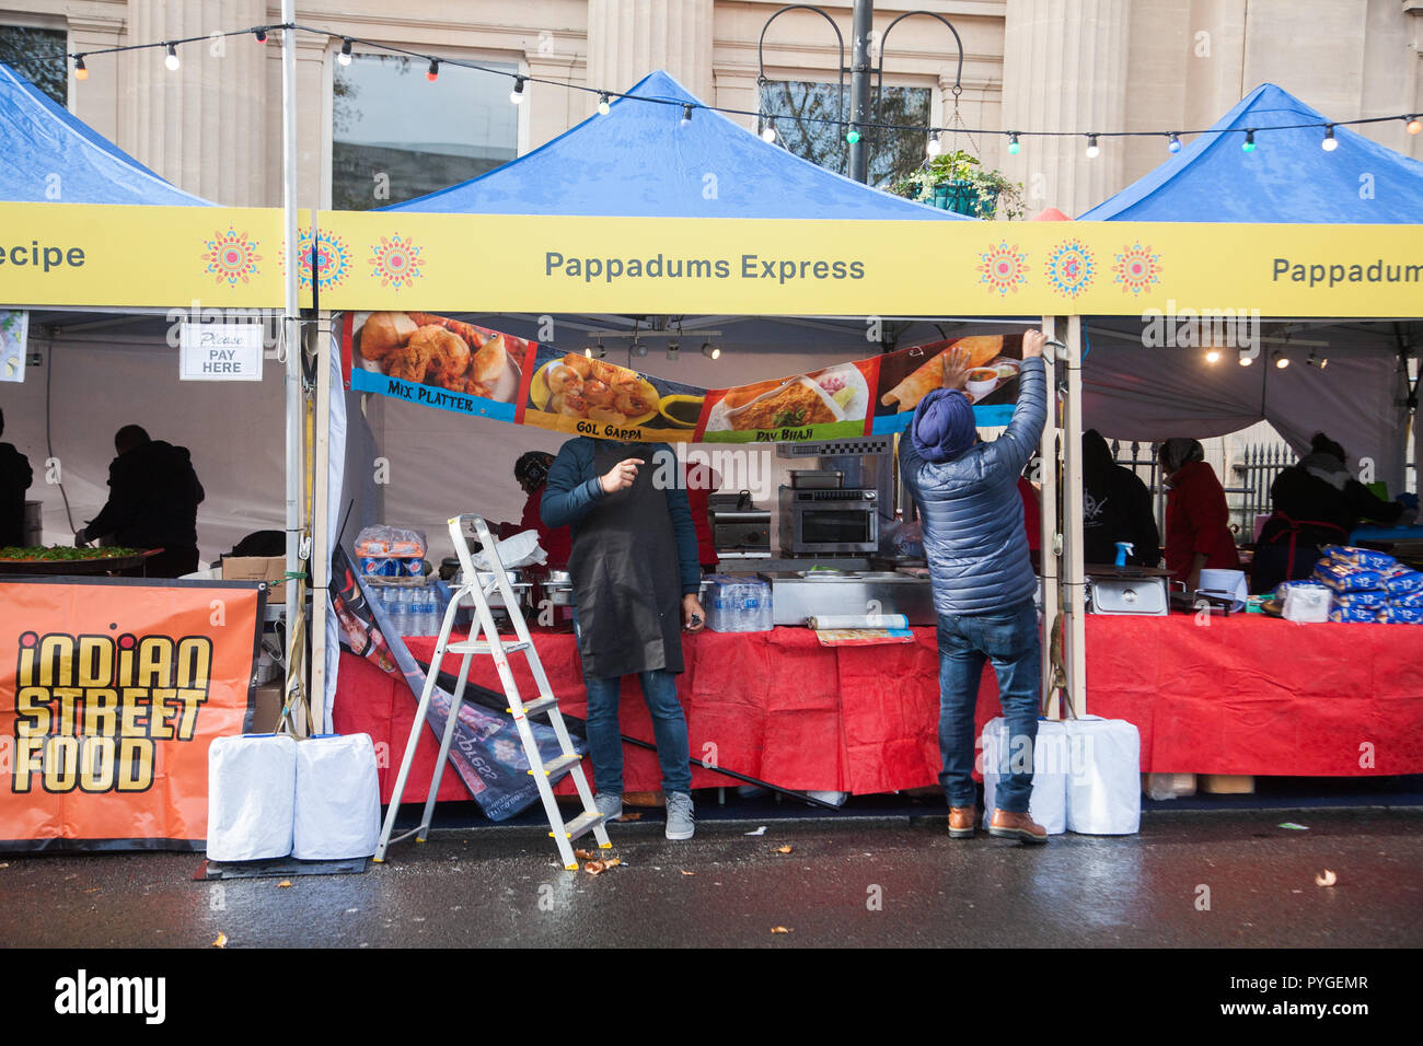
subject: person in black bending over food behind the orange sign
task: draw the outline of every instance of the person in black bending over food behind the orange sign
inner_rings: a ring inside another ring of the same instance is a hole
[[[149,556],[149,578],[181,578],[198,569],[198,505],[205,497],[186,447],[149,438],[138,426],[114,435],[118,457],[108,467],[108,504],[74,535],[75,546],[97,538],[125,548],[161,548]]]

